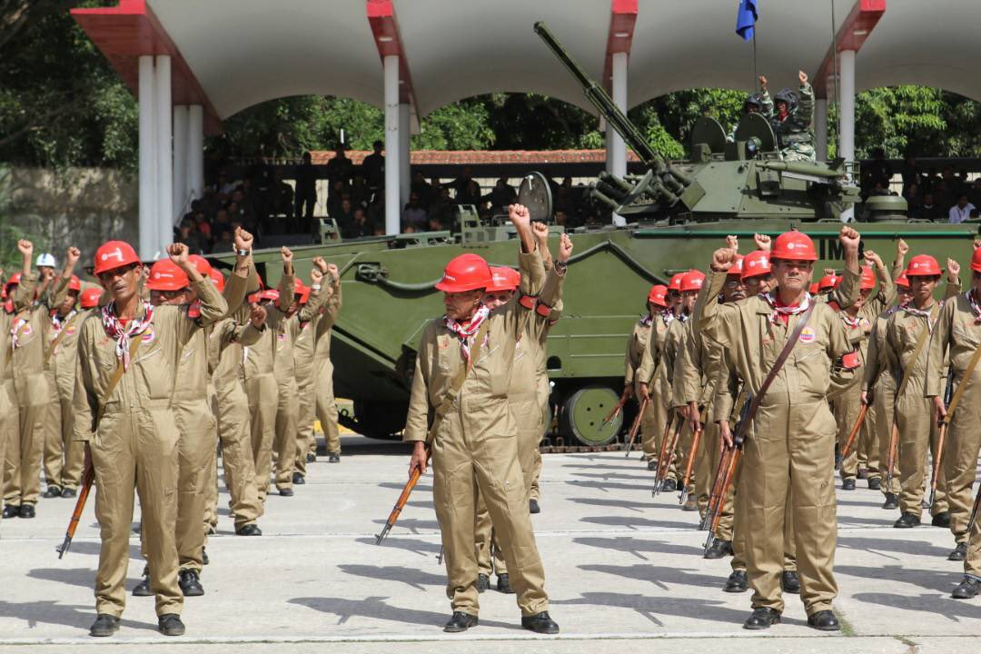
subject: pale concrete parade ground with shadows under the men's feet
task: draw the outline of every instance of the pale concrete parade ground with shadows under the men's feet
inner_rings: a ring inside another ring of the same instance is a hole
[[[271,495],[265,535],[233,535],[223,508],[220,535],[208,545],[207,594],[184,607],[187,635],[156,631],[152,598],[129,597],[112,642],[141,650],[186,652],[323,651],[511,652],[537,637],[518,626],[514,597],[481,596],[481,626],[443,634],[448,614],[432,503],[432,478],[417,486],[384,546],[374,534],[405,478],[407,450],[357,436],[344,438],[339,465],[318,462],[295,497]],[[796,597],[784,624],[768,633],[741,629],[749,594],[721,592],[728,560],[700,558],[703,533],[676,495],[650,497],[650,473],[615,453],[544,457],[542,514],[534,519],[545,563],[558,642],[531,651],[594,653],[596,639],[617,639],[620,652],[697,652],[727,646],[753,652],[958,652],[981,649],[981,600],[955,601],[960,564],[946,560],[951,536],[939,528],[891,528],[893,512],[878,492],[839,491],[836,609],[847,629],[819,634],[805,626]],[[860,482],[861,484],[862,482]],[[227,496],[223,493],[222,504]],[[0,651],[91,651],[92,583],[98,532],[91,507],[71,553],[59,561],[72,500],[42,500],[33,521],[0,526]],[[134,517],[134,521],[138,516]],[[142,569],[132,538],[131,588]],[[850,637],[851,636],[851,637]],[[848,642],[838,640],[848,637]],[[651,643],[650,638],[658,639]],[[105,645],[106,641],[98,641]],[[244,645],[248,646],[245,647]],[[184,646],[181,646],[184,645]],[[124,647],[123,649],[129,649]],[[123,651],[123,650],[118,650]],[[618,653],[619,654],[619,653]]]

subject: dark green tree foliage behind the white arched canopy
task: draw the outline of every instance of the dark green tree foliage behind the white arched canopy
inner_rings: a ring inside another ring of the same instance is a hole
[[[115,0],[113,0],[115,2]],[[109,0],[0,0],[0,161],[58,168],[134,170],[136,103],[126,84],[68,14]],[[684,155],[695,121],[714,116],[726,129],[745,94],[692,89],[655,98],[630,118],[662,154]],[[869,157],[981,156],[981,107],[938,88],[876,88],[856,98],[856,149]],[[835,108],[829,141],[834,153]],[[300,96],[250,107],[209,138],[212,159],[296,157],[339,141],[370,149],[384,138],[380,109],[347,98]],[[535,93],[490,93],[439,108],[412,136],[416,149],[599,148],[590,113]]]

